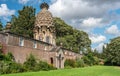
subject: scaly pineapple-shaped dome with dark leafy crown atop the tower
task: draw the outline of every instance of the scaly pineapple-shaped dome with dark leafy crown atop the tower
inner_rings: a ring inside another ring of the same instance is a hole
[[[41,11],[36,16],[35,26],[53,26],[52,14],[48,11],[48,4],[41,4]]]

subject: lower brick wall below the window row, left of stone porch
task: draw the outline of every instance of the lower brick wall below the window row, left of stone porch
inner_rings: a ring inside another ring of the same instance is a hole
[[[46,61],[48,63],[50,63],[50,58],[54,58],[55,56],[54,52],[12,45],[7,46],[7,52],[11,52],[15,57],[15,61],[19,63],[24,63],[30,54],[33,54],[38,60]]]

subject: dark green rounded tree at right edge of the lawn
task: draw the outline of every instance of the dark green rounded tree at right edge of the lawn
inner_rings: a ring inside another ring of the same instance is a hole
[[[111,40],[103,51],[106,64],[120,66],[120,37]]]

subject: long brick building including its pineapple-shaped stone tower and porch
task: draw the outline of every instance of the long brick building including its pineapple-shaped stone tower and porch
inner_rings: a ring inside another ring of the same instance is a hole
[[[34,39],[11,33],[0,32],[0,44],[3,45],[3,53],[11,52],[18,63],[23,63],[33,54],[37,59],[46,61],[57,68],[64,68],[66,59],[76,59],[80,54],[68,49],[56,46],[55,27],[52,14],[48,11],[48,4],[41,4],[41,11],[36,16]],[[7,24],[8,28],[10,24]]]

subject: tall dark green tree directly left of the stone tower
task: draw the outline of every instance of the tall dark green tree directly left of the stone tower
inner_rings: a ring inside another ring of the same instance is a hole
[[[33,37],[35,21],[35,8],[31,6],[24,6],[22,10],[18,11],[18,17],[12,16],[11,31],[26,37]]]

